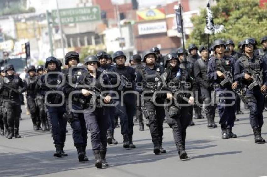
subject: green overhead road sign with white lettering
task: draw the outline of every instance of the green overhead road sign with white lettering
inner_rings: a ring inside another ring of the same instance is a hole
[[[84,8],[68,8],[59,9],[61,24],[91,22],[100,20],[99,6],[91,6]],[[59,19],[57,18],[57,10],[52,10],[53,24],[57,25]]]

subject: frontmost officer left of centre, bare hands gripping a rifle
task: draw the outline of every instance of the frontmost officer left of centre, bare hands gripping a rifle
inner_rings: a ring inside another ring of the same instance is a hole
[[[99,53],[98,53],[99,54]],[[110,113],[110,109],[106,109],[102,103],[108,104],[111,101],[111,93],[105,93],[100,97],[94,97],[93,94],[97,95],[96,92],[108,91],[110,88],[104,87],[110,85],[108,76],[102,74],[97,67],[100,66],[98,58],[94,55],[90,55],[85,58],[85,66],[87,66],[88,73],[84,73],[79,80],[82,80],[83,87],[81,89],[84,95],[85,104],[84,118],[86,121],[86,127],[91,133],[92,149],[95,155],[95,166],[96,168],[102,168],[108,166],[106,162],[106,146],[107,138],[106,133],[108,129],[108,119],[106,114]],[[89,86],[94,87],[90,89]],[[95,93],[93,93],[95,91]],[[91,100],[93,100],[91,102]]]

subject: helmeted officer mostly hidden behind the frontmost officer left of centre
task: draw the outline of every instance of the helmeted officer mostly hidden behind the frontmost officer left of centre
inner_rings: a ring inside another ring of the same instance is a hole
[[[98,52],[96,54],[96,57],[99,60],[99,67],[97,69],[98,71],[100,71],[100,72],[104,72],[104,71],[112,72],[112,69],[114,67],[107,63],[108,54],[106,52],[104,52],[104,51]],[[109,74],[108,76],[112,77],[111,74]],[[115,129],[114,113],[115,113],[115,108],[114,107],[106,107],[106,110],[107,110],[107,112],[109,112],[109,114],[108,114],[109,128],[107,130],[107,143],[108,144],[118,144],[118,142],[114,138],[114,129]]]

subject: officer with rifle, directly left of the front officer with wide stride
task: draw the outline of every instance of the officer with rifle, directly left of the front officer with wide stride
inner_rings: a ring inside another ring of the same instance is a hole
[[[163,140],[163,120],[165,117],[164,112],[164,99],[162,98],[162,94],[156,94],[155,102],[151,100],[154,91],[151,91],[150,83],[154,83],[155,86],[158,85],[161,74],[164,72],[164,68],[160,65],[156,65],[155,61],[157,59],[156,53],[151,50],[144,51],[143,53],[143,62],[146,63],[146,67],[140,69],[137,73],[137,87],[136,89],[141,92],[145,91],[144,94],[144,107],[147,109],[147,116],[149,123],[150,134],[152,137],[152,142],[154,145],[153,152],[155,154],[166,153],[166,150],[162,148],[162,140]],[[138,84],[143,83],[144,89],[140,87]],[[159,90],[157,90],[159,91]],[[150,98],[149,98],[150,97]],[[141,98],[142,99],[142,98]],[[157,105],[157,104],[161,104]]]

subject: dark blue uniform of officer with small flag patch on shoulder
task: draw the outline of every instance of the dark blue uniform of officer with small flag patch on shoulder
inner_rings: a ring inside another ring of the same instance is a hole
[[[234,64],[234,58],[227,57],[226,55],[224,55],[221,59],[218,59],[216,57],[210,58],[208,62],[208,79],[211,81],[211,83],[213,83],[216,94],[219,93],[219,102],[217,103],[217,108],[220,117],[219,124],[221,125],[223,133],[226,132],[226,129],[229,130],[229,132],[232,132],[232,127],[234,126],[236,110],[234,105],[235,95],[233,92],[227,92],[233,91],[230,83],[226,83],[225,86],[220,85],[221,81],[223,81],[224,78],[219,78],[216,72],[219,70],[221,71],[220,68],[223,67],[226,71],[231,72],[233,75]],[[229,106],[226,104],[232,105]]]

